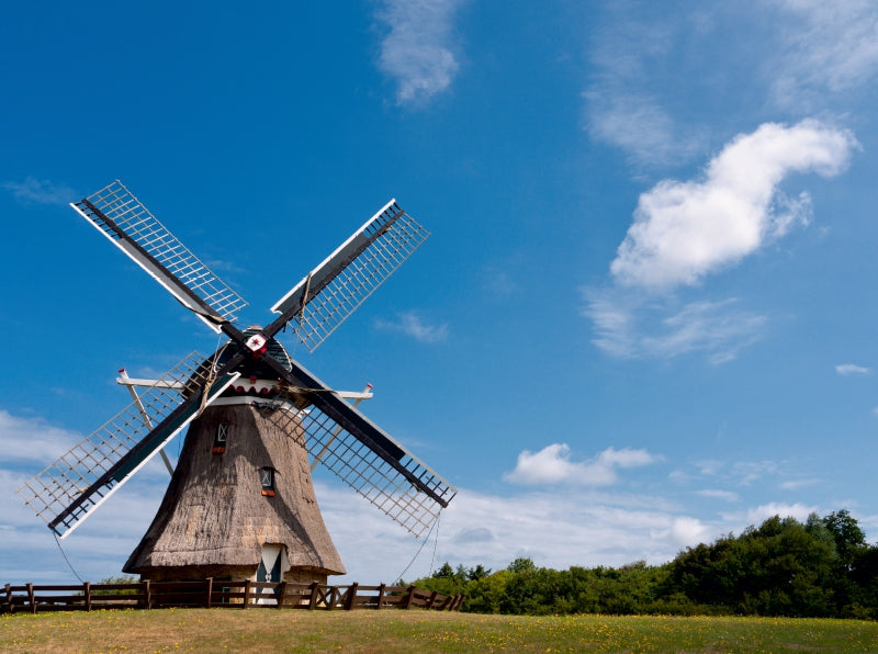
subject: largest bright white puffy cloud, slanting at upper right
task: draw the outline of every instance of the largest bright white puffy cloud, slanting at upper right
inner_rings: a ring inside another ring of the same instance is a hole
[[[703,179],[664,180],[640,196],[611,273],[624,285],[666,290],[740,261],[808,222],[807,193],[786,199],[778,189],[784,178],[836,176],[856,147],[851,132],[813,120],[766,123],[736,136],[708,164]]]

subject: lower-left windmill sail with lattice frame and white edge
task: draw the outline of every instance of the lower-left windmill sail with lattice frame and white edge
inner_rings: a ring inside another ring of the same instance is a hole
[[[203,362],[204,357],[198,352],[185,357],[137,401],[16,493],[50,529],[61,538],[68,535],[195,418],[201,403],[187,399],[192,392],[207,385],[205,374],[210,367],[202,365]],[[214,381],[206,402],[217,397],[238,376],[239,373],[234,373]],[[191,410],[181,409],[184,403],[192,405]]]

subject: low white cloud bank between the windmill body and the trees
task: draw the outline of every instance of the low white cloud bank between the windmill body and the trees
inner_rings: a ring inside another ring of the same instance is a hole
[[[586,489],[488,495],[460,489],[441,515],[438,538],[435,531],[418,542],[351,493],[317,490],[327,528],[349,571],[342,579],[361,583],[395,580],[406,567],[404,577],[412,580],[446,561],[492,570],[502,570],[519,556],[555,570],[619,566],[640,560],[661,564],[671,561],[680,546],[728,531],[653,495]],[[364,539],[381,542],[382,548],[363,549],[359,543]],[[398,556],[387,557],[387,551]]]

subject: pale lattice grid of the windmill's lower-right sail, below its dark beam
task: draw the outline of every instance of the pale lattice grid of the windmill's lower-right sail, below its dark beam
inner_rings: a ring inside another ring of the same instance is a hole
[[[274,402],[263,405],[263,410],[291,438],[301,441],[297,435],[300,429],[304,429],[305,447],[314,460],[416,538],[429,530],[440,511],[457,495],[457,488],[396,441],[394,444],[404,452],[398,462],[444,504],[418,489],[373,449],[317,407],[312,405],[296,410],[285,402]]]

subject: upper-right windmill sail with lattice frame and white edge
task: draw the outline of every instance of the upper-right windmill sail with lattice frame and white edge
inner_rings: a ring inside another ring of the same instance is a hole
[[[428,236],[391,200],[271,311],[313,352]]]

